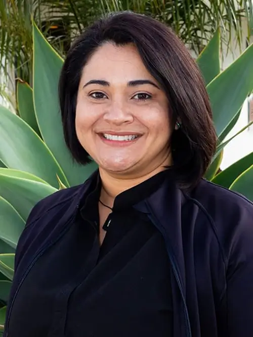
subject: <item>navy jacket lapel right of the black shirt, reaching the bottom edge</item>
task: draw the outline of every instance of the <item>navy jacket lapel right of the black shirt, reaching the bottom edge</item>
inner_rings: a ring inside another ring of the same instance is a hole
[[[174,336],[191,336],[186,307],[185,259],[182,240],[182,211],[185,197],[176,183],[168,178],[146,200],[135,205],[146,213],[163,235],[172,265],[172,294],[174,310]]]

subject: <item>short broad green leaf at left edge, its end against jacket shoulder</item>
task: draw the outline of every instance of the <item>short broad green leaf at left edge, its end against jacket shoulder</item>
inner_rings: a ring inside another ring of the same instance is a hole
[[[0,238],[16,248],[24,226],[25,222],[18,212],[0,196]]]

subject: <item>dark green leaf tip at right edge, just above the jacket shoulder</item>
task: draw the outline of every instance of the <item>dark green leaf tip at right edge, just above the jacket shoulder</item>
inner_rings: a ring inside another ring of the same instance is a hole
[[[242,172],[231,184],[229,189],[234,190],[253,202],[253,165]]]

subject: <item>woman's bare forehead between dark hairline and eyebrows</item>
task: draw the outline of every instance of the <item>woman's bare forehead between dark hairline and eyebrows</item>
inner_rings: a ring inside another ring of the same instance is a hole
[[[152,79],[134,44],[117,46],[106,42],[98,48],[82,70],[82,80],[105,79],[109,82]]]

